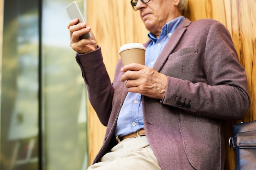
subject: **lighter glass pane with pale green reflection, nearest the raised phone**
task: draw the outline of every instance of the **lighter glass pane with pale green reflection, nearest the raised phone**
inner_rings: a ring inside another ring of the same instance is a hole
[[[88,164],[85,83],[67,29],[66,7],[71,2],[43,1],[43,152],[47,170],[83,170]],[[82,0],[78,3],[83,7]]]

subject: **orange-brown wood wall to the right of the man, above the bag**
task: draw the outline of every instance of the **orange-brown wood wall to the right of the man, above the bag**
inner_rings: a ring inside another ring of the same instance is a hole
[[[231,34],[240,63],[247,72],[248,91],[252,100],[250,110],[243,120],[225,125],[225,169],[234,170],[235,153],[228,146],[232,126],[242,121],[256,120],[256,0],[189,0],[186,17],[192,21],[212,18],[224,24]]]

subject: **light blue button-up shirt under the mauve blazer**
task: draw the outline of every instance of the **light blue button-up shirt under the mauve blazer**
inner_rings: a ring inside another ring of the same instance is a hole
[[[180,16],[165,24],[159,38],[156,38],[152,33],[148,33],[148,37],[152,41],[145,52],[146,66],[153,68],[166,42],[184,19],[184,16]],[[128,92],[117,120],[116,136],[124,136],[144,128],[142,105],[141,94]]]

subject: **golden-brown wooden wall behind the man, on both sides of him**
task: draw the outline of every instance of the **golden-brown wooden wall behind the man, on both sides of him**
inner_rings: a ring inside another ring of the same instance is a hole
[[[256,0],[189,0],[186,17],[195,21],[213,18],[229,30],[239,55],[240,63],[247,71],[252,105],[244,120],[256,120]],[[133,11],[130,0],[87,0],[87,21],[102,47],[104,62],[111,80],[119,59],[118,50],[130,42],[144,43],[148,31],[141,22],[138,11]],[[106,127],[102,126],[93,110],[89,115],[90,163],[103,142]],[[226,125],[226,138],[231,136],[232,122]],[[227,144],[227,142],[226,142]],[[234,150],[227,146],[227,170],[235,169]]]

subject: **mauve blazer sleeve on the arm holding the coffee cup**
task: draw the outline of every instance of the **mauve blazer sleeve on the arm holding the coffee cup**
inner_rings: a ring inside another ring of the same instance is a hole
[[[192,41],[197,42],[196,39]],[[182,66],[181,74],[187,74],[187,78],[168,76],[166,93],[160,102],[207,118],[244,118],[250,107],[247,76],[225,26],[212,24],[196,46],[198,51],[191,54],[191,65]],[[197,55],[200,58],[193,62]],[[200,81],[189,77],[197,72],[203,72]]]

